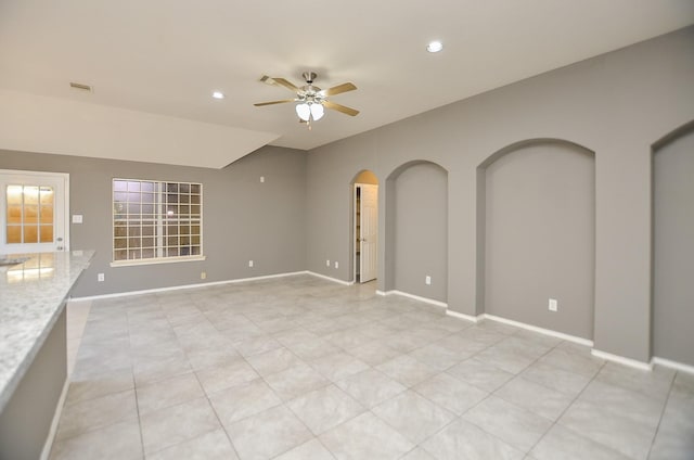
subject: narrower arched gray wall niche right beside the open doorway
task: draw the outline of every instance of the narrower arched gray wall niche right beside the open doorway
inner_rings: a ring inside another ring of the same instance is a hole
[[[398,166],[386,179],[385,213],[385,290],[446,303],[448,171],[428,161]]]

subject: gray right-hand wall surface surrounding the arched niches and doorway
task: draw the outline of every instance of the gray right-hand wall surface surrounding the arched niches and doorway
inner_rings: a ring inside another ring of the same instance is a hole
[[[451,310],[476,315],[485,302],[478,166],[517,142],[565,140],[595,152],[595,348],[647,361],[651,145],[694,119],[692,49],[689,27],[314,149],[307,164],[307,268],[350,279],[347,265],[327,269],[324,261],[349,257],[347,190],[357,173],[370,169],[383,181],[403,164],[429,161],[448,171],[447,302]],[[380,188],[382,290],[394,270],[385,258],[393,251],[384,238],[395,205],[386,189]]]

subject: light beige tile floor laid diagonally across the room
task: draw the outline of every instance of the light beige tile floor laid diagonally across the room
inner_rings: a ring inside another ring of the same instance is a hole
[[[374,288],[294,276],[68,306],[51,459],[694,459],[693,375]]]

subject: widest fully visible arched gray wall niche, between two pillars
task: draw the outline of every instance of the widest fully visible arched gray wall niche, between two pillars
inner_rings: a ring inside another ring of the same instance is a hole
[[[592,340],[594,152],[542,138],[487,157],[477,168],[476,257],[477,315]]]

